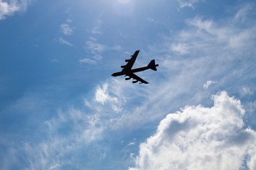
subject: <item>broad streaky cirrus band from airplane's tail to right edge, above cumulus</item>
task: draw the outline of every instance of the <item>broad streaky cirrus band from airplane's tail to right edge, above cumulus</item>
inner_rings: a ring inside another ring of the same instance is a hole
[[[137,106],[131,105],[132,110],[127,111],[129,114],[120,116],[113,125],[118,128],[135,128],[158,120],[166,111],[181,108],[189,103],[209,104],[209,92],[216,93],[223,86],[233,93],[240,91],[243,84],[255,77],[255,74],[252,74],[255,62],[252,61],[256,54],[256,23],[252,20],[253,16],[241,16],[243,23],[240,23],[241,20],[234,21],[236,15],[237,13],[225,21],[213,21],[200,16],[190,18],[186,21],[186,28],[172,33],[169,37],[164,36],[166,42],[163,44],[149,47],[148,55],[153,56],[159,64],[157,72],[149,71],[144,74],[143,79],[149,79],[150,86],[136,86],[133,89],[134,86],[130,86],[131,84],[122,78],[110,81],[110,89],[118,86],[119,93],[122,94],[120,96],[129,98],[130,102],[126,103],[128,108],[132,101],[144,101]],[[244,24],[246,27],[243,27]],[[234,47],[230,41],[237,35],[242,38]],[[186,47],[185,50],[183,47]],[[218,84],[206,91],[202,86],[207,86],[209,79],[218,81]],[[247,88],[253,89],[252,84]],[[129,94],[126,91],[130,91]],[[253,91],[250,94],[253,94]]]

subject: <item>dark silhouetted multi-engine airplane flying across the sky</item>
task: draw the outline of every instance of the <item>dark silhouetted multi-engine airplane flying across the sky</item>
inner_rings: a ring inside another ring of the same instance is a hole
[[[125,80],[129,80],[131,78],[135,79],[134,81],[132,81],[133,84],[137,83],[138,81],[140,81],[139,84],[149,84],[148,82],[144,81],[144,79],[135,75],[134,72],[142,72],[146,69],[153,69],[154,71],[156,71],[157,70],[156,67],[158,67],[159,64],[155,64],[155,60],[151,60],[151,62],[149,62],[149,64],[146,67],[132,69],[132,66],[133,66],[138,54],[139,54],[139,50],[134,52],[134,55],[131,55],[131,59],[125,60],[125,62],[127,62],[127,64],[121,66],[122,71],[113,73],[112,77],[118,77],[118,76],[124,75],[124,77],[127,77],[127,78],[125,78]]]

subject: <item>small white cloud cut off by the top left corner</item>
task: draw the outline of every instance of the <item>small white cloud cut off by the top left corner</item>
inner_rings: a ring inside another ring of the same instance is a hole
[[[29,4],[31,4],[31,0],[0,0],[0,20],[5,19],[6,16],[13,16],[18,11],[26,11]]]

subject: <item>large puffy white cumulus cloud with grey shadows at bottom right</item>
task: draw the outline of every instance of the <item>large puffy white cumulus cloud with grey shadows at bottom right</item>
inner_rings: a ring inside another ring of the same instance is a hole
[[[186,106],[166,115],[129,170],[255,169],[256,132],[245,128],[240,101],[225,91],[213,101],[211,108]]]

